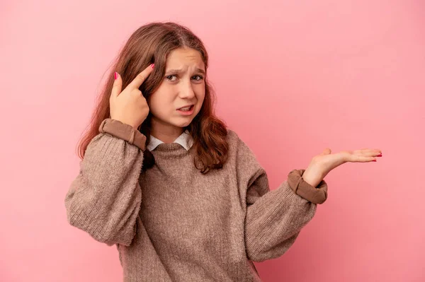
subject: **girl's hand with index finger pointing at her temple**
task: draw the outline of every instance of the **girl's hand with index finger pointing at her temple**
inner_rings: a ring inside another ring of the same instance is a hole
[[[149,114],[149,106],[139,88],[147,76],[151,74],[153,68],[154,64],[147,66],[122,92],[123,81],[121,76],[115,73],[118,77],[113,82],[111,97],[109,98],[111,119],[130,124],[134,129],[137,129],[145,121]]]

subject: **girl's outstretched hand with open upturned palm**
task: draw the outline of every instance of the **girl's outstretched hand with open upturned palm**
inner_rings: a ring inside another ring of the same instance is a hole
[[[302,179],[312,187],[317,185],[334,168],[343,163],[369,163],[376,161],[375,157],[382,157],[382,151],[379,149],[360,149],[356,151],[341,151],[331,154],[331,149],[326,148],[319,155],[314,156],[310,165],[302,174]]]

